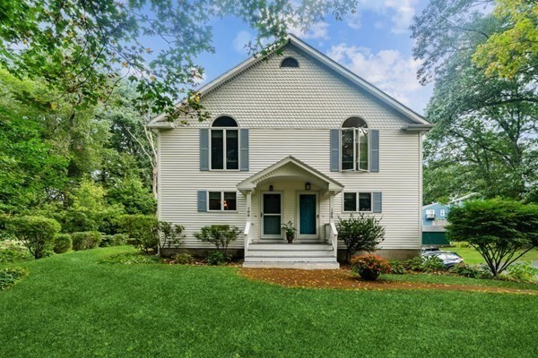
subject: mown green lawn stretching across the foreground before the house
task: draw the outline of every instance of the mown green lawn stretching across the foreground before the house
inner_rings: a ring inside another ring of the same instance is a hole
[[[285,288],[230,267],[98,263],[121,251],[20,263],[30,276],[0,292],[0,357],[538,356],[538,295]]]

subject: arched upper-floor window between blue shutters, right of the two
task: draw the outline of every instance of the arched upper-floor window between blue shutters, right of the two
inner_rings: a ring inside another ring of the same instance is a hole
[[[342,124],[342,170],[369,170],[368,124],[360,117],[350,117]]]

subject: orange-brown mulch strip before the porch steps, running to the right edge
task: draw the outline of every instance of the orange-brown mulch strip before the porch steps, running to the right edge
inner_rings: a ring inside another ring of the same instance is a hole
[[[538,294],[538,291],[491,286],[427,284],[387,280],[364,281],[348,269],[240,268],[239,274],[256,281],[288,286],[354,290],[442,290],[508,294]]]

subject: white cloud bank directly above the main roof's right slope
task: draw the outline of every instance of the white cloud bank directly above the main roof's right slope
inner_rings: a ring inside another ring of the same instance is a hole
[[[347,46],[343,43],[331,47],[327,55],[404,105],[423,113],[431,97],[432,87],[421,86],[416,79],[420,61],[405,57],[397,50],[386,49],[373,53],[367,47]]]

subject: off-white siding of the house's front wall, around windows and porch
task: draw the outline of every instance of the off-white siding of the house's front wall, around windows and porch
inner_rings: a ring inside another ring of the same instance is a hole
[[[345,185],[345,192],[381,192],[386,226],[386,249],[420,247],[420,140],[401,131],[409,123],[403,115],[363,94],[349,81],[335,77],[317,62],[287,48],[285,55],[299,68],[280,69],[282,56],[273,56],[203,98],[204,106],[218,115],[231,115],[240,128],[249,129],[248,172],[200,170],[199,128],[211,121],[193,123],[160,134],[160,200],[162,220],[186,226],[185,247],[204,247],[193,234],[201,226],[230,224],[243,229],[246,198],[238,194],[238,212],[198,212],[197,192],[235,191],[237,183],[290,155]],[[330,129],[340,128],[351,115],[360,115],[379,130],[379,173],[341,173],[330,169]],[[275,191],[295,195],[304,183],[275,184]],[[288,203],[289,204],[289,203]],[[260,200],[252,200],[253,219],[259,218]],[[343,194],[334,199],[334,217],[343,214]],[[321,195],[320,223],[328,222],[328,198]],[[283,222],[295,219],[295,208],[284,208]],[[253,227],[256,240],[260,227]],[[320,227],[321,238],[324,231]],[[209,247],[209,246],[207,246]],[[242,248],[242,237],[230,245]]]

